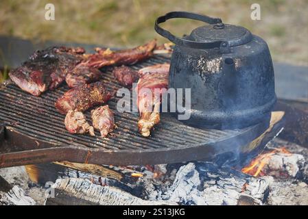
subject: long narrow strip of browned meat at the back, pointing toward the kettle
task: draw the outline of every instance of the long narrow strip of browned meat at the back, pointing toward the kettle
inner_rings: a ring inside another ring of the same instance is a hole
[[[134,49],[111,51],[110,49],[96,49],[95,54],[87,55],[86,64],[94,68],[103,66],[135,64],[153,55],[156,47],[156,40],[152,40],[143,46]]]

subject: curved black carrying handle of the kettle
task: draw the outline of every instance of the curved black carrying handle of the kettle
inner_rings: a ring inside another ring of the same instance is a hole
[[[178,38],[177,36],[174,36],[169,31],[163,29],[158,24],[164,23],[165,21],[171,19],[171,18],[189,18],[192,20],[197,21],[203,21],[205,23],[209,24],[216,24],[216,23],[222,23],[222,19],[220,18],[211,18],[209,16],[205,16],[202,14],[195,14],[191,12],[169,12],[163,16],[159,16],[155,21],[155,30],[158,34],[161,36],[169,39],[171,42],[174,42],[175,44],[178,44],[183,47],[191,47],[193,49],[213,49],[213,48],[221,48],[221,47],[227,47],[228,42],[226,41],[215,41],[215,42],[196,42],[192,40],[186,40],[183,38]]]

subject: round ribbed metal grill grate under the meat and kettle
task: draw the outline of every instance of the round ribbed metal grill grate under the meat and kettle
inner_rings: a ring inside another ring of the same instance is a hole
[[[169,59],[156,55],[156,57],[141,64],[136,64],[132,68],[139,69],[144,66],[163,62],[169,62]],[[106,70],[103,74],[104,77],[102,80],[106,83],[108,89],[117,90],[121,88],[117,81],[115,81],[110,70]],[[152,136],[150,138],[143,138],[137,130],[139,114],[120,114],[116,110],[116,104],[119,98],[115,98],[111,99],[108,105],[115,113],[115,124],[117,128],[111,135],[108,135],[108,138],[99,137],[98,131],[96,131],[95,137],[73,135],[64,127],[64,115],[59,114],[54,107],[56,99],[62,96],[68,89],[67,86],[61,86],[57,90],[47,91],[41,96],[27,94],[14,84],[5,86],[5,88],[0,90],[0,121],[3,121],[8,130],[19,133],[23,137],[34,139],[39,143],[43,142],[42,144],[38,144],[39,146],[27,145],[23,146],[23,148],[20,146],[8,146],[5,149],[5,153],[27,152],[29,149],[58,149],[62,147],[76,149],[75,153],[78,153],[78,151],[91,151],[91,155],[87,155],[85,158],[83,153],[81,153],[80,159],[76,158],[78,157],[76,155],[67,155],[67,158],[64,155],[61,155],[62,157],[59,156],[59,158],[47,155],[48,160],[52,160],[53,158],[54,161],[67,159],[72,162],[123,165],[168,163],[206,157],[206,154],[198,154],[196,153],[197,151],[191,151],[193,153],[191,155],[186,154],[186,150],[197,150],[202,147],[210,154],[215,149],[216,143],[217,147],[220,146],[221,148],[224,144],[220,143],[224,142],[224,140],[240,136],[251,129],[251,127],[237,131],[197,129],[184,125],[176,120],[176,118],[167,114],[163,114],[161,123],[152,131]],[[90,118],[89,111],[86,112],[86,117],[88,119]],[[263,130],[264,127],[262,128]],[[252,135],[250,133],[250,137],[245,139],[244,142],[240,140],[239,144],[250,142],[259,133],[261,133],[261,129],[255,131]],[[220,150],[222,152],[224,151],[223,148]],[[168,155],[168,152],[171,151],[173,153],[169,153]],[[95,153],[97,153],[97,156],[93,156]],[[99,154],[102,156],[99,157]],[[156,155],[161,157],[156,157]]]

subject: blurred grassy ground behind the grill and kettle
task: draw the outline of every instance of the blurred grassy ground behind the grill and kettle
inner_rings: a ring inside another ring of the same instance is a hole
[[[55,21],[45,20],[47,3],[55,5]],[[261,21],[250,18],[252,3],[261,5]],[[134,47],[152,38],[167,42],[154,31],[154,20],[173,10],[198,12],[242,25],[268,42],[274,61],[308,65],[308,0],[1,0],[0,35],[33,42]],[[164,27],[182,36],[200,25],[198,21],[176,19]],[[2,70],[1,78],[6,71]]]

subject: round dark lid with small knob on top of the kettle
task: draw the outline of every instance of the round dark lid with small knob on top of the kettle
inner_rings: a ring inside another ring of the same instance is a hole
[[[245,27],[217,23],[193,29],[189,39],[206,43],[217,40],[226,41],[230,47],[235,47],[250,42],[252,40],[252,34]]]

